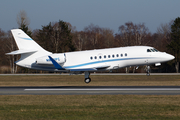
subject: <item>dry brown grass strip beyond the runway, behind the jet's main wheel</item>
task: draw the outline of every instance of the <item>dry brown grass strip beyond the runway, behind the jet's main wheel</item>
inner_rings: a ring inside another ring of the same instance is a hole
[[[178,75],[92,75],[84,83],[83,75],[0,76],[0,86],[180,86]]]

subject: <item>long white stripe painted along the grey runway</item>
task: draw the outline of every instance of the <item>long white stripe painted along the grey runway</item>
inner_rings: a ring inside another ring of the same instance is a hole
[[[24,89],[24,91],[180,91],[180,88]]]

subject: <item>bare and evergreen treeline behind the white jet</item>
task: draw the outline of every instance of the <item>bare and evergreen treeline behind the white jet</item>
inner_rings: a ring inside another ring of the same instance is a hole
[[[179,72],[179,24],[180,18],[176,18],[176,20],[170,23],[161,24],[157,28],[156,33],[149,32],[144,23],[135,24],[133,22],[120,25],[117,33],[114,33],[109,28],[103,28],[94,24],[84,27],[83,31],[77,31],[70,23],[62,20],[50,22],[42,26],[41,29],[36,30],[30,30],[28,24],[22,20],[19,22],[19,28],[24,30],[44,49],[53,53],[124,46],[152,46],[159,51],[173,54],[176,59],[163,63],[160,67],[154,67],[152,65],[151,72]],[[175,27],[174,31],[173,26]],[[0,48],[1,73],[38,72],[20,68],[13,64],[20,56],[5,55],[5,53],[18,49],[10,31],[4,32],[0,29]],[[114,72],[144,72],[143,69],[144,67],[141,67],[135,71],[135,67],[129,67]]]

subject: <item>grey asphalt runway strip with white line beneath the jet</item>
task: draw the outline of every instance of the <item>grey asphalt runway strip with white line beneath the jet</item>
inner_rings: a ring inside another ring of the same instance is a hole
[[[0,87],[0,95],[180,95],[180,86]]]

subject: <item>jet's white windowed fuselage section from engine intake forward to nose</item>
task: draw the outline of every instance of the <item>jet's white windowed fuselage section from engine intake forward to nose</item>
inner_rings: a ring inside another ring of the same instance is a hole
[[[147,52],[151,47],[133,46],[66,53],[65,68],[91,68],[109,65],[108,69],[166,62],[173,56]]]

